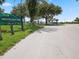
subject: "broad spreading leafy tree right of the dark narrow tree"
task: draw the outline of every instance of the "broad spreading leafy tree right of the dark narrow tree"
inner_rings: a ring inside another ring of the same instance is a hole
[[[44,17],[46,19],[46,24],[48,22],[48,18],[52,19],[54,16],[61,14],[62,12],[61,7],[55,6],[54,4],[48,4],[47,2],[40,4],[38,9],[38,16]]]

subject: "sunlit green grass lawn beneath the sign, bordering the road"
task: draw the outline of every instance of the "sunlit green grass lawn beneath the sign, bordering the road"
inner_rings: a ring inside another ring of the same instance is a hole
[[[11,35],[9,25],[2,25],[1,28],[4,32],[2,34],[3,40],[0,41],[0,55],[3,55],[6,51],[12,48],[17,42],[19,42],[20,40],[28,36],[30,33],[34,32],[35,30],[38,30],[41,27],[36,25],[30,26],[28,24],[24,26],[25,31],[23,32],[20,31],[19,25],[14,25],[14,31],[15,31],[14,35]]]

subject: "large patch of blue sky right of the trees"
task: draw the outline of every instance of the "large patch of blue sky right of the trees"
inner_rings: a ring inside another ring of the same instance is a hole
[[[62,7],[62,14],[57,16],[60,21],[72,21],[79,17],[79,2],[75,0],[49,0],[49,2]]]

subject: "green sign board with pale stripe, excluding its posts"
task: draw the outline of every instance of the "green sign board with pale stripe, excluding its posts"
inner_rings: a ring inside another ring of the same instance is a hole
[[[14,25],[21,24],[21,17],[14,14],[0,13],[0,25],[8,25],[10,23],[13,23]]]

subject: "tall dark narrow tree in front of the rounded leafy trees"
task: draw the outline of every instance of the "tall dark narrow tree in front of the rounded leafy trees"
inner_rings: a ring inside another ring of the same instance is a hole
[[[33,23],[34,16],[36,14],[36,4],[37,0],[29,0],[28,1],[28,10],[29,10],[29,15],[30,15],[30,22]]]

